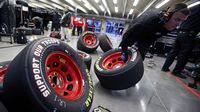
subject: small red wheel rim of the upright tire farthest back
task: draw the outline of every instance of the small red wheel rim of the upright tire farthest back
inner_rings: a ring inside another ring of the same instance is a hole
[[[84,36],[83,41],[87,46],[94,46],[97,42],[97,39],[94,37],[94,35],[87,34]]]

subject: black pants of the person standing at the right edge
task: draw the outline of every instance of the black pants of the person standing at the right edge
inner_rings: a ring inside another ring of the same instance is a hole
[[[174,43],[174,47],[168,53],[167,59],[165,60],[162,69],[169,69],[175,57],[177,56],[177,63],[173,69],[173,72],[180,73],[187,64],[188,56],[194,48],[195,36],[196,34],[194,33],[180,32]]]

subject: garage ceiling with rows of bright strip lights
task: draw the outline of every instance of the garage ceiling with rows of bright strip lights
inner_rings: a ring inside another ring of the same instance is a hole
[[[59,8],[64,10],[64,6],[68,5],[70,10],[77,13],[92,14],[97,16],[110,16],[117,18],[137,17],[148,9],[154,9],[159,3],[166,3],[157,8],[163,10],[167,7],[184,2],[192,4],[198,0],[26,0],[29,5],[42,8]],[[117,2],[116,2],[117,1]],[[114,3],[116,2],[116,3]],[[135,3],[135,5],[133,5]],[[115,9],[117,8],[117,9]],[[116,12],[118,10],[118,12]],[[130,12],[132,10],[132,13]]]

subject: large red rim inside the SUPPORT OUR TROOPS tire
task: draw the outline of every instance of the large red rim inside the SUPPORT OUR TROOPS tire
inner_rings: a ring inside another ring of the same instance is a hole
[[[67,100],[79,99],[83,93],[83,77],[76,62],[62,52],[51,53],[45,62],[48,82],[57,94]]]

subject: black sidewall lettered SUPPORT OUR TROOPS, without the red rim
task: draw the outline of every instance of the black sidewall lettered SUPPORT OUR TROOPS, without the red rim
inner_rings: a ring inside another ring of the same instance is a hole
[[[77,100],[69,101],[59,96],[46,78],[45,60],[47,56],[54,51],[66,53],[66,55],[73,58],[78,66],[80,66],[83,74],[84,90],[82,96]],[[58,111],[67,110],[76,112],[85,111],[90,108],[93,99],[91,76],[76,51],[63,42],[60,42],[58,39],[43,38],[34,44],[31,44],[27,52],[24,63],[25,66],[27,66],[27,68],[25,68],[25,77],[28,83],[27,86],[29,86],[27,88],[30,88],[31,93],[34,96],[33,99],[35,99],[36,102],[40,104],[42,102],[42,107],[48,107],[49,109]],[[34,64],[39,65],[39,68],[34,67]]]

